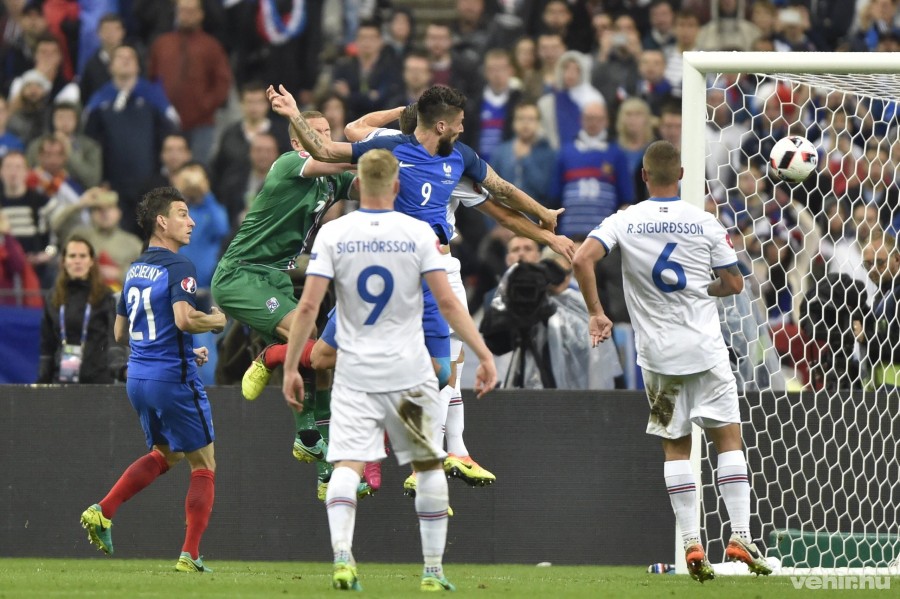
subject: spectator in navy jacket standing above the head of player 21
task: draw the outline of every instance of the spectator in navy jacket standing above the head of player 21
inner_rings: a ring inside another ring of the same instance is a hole
[[[112,52],[112,79],[85,107],[84,132],[103,148],[103,178],[119,194],[122,223],[138,230],[135,206],[141,184],[158,169],[162,141],[178,124],[163,90],[140,76],[137,50],[121,45]]]

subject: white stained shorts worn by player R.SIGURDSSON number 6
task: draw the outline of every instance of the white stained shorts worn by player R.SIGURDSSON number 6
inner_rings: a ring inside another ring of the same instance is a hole
[[[701,428],[740,424],[737,383],[728,360],[696,374],[641,370],[650,403],[647,434],[680,439],[691,434],[692,423]]]

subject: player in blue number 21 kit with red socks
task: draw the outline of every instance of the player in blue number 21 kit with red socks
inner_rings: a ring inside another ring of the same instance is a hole
[[[209,572],[199,546],[215,498],[215,433],[197,373],[208,352],[194,347],[192,335],[221,331],[225,315],[217,308],[210,314],[196,308],[197,272],[178,254],[190,243],[194,228],[181,193],[173,187],[156,188],[141,200],[137,215],[148,247],[125,275],[115,334],[118,342],[128,340],[131,346],[126,388],[150,453],[131,464],[106,497],[82,513],[81,525],[91,543],[111,554],[112,519],[119,506],[187,458],[187,531],[175,569]]]

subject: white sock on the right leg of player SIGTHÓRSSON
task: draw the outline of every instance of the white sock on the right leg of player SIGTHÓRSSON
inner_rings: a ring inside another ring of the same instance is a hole
[[[422,536],[425,574],[444,575],[441,562],[447,545],[447,508],[450,494],[443,469],[425,470],[416,475],[416,513]]]

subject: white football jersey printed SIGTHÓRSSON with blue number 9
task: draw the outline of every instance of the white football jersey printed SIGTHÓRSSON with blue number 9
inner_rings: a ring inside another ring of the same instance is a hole
[[[437,237],[405,214],[359,209],[322,227],[306,273],[334,279],[336,383],[373,393],[437,384],[422,331],[422,274],[433,270],[444,270]]]

